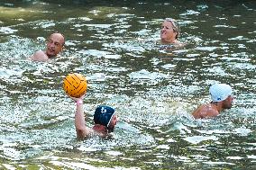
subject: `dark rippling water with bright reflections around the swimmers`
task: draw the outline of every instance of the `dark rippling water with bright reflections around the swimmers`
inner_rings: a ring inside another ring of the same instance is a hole
[[[0,169],[255,169],[256,1],[0,1]],[[183,48],[158,45],[181,25]],[[32,62],[60,31],[61,58]],[[70,72],[120,118],[112,139],[76,139]],[[196,121],[208,87],[232,85],[233,108]]]

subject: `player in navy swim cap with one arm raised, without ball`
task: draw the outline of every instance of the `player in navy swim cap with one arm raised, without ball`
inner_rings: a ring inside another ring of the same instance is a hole
[[[84,139],[93,135],[98,135],[100,137],[107,137],[111,132],[114,131],[114,127],[117,123],[117,115],[114,109],[109,106],[100,105],[96,108],[94,114],[95,125],[93,128],[88,128],[85,121],[84,111],[83,111],[83,99],[85,95],[80,98],[73,99],[77,104],[77,111],[75,114],[75,126],[77,130],[78,139]]]

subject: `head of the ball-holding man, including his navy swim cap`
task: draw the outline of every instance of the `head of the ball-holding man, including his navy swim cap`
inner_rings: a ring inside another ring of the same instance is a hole
[[[117,117],[112,107],[101,105],[96,108],[94,121],[96,124],[105,126],[108,132],[113,132]]]

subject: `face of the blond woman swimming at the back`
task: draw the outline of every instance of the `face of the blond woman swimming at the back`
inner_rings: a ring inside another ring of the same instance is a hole
[[[160,39],[163,42],[174,43],[176,41],[178,32],[173,30],[171,22],[164,21],[161,24]]]

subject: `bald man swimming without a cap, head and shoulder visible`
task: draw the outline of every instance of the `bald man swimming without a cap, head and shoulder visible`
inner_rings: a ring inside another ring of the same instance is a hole
[[[30,58],[33,61],[47,61],[49,58],[55,58],[64,48],[64,44],[65,38],[61,33],[52,33],[48,38],[45,51],[38,50]]]

